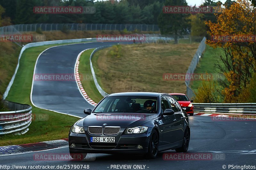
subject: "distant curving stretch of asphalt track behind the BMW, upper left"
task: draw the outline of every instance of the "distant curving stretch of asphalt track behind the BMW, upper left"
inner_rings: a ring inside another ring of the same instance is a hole
[[[39,56],[35,75],[73,75],[76,58],[81,51],[113,44],[116,42],[92,42],[49,48]],[[75,80],[35,81],[34,78],[32,89],[31,100],[39,108],[78,117],[84,117],[85,108],[94,108],[84,100]]]

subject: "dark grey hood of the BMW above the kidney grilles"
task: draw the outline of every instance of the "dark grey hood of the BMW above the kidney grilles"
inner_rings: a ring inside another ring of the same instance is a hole
[[[97,113],[80,119],[76,125],[81,127],[88,126],[120,126],[134,127],[144,125],[146,122],[157,118],[157,114],[144,113]]]

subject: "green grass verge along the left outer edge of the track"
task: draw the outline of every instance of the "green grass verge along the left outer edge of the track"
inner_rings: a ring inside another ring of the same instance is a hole
[[[30,92],[37,56],[44,49],[57,45],[60,44],[28,48],[23,52],[20,59],[19,70],[6,100],[32,106],[32,103],[30,102]],[[35,121],[32,121],[29,126],[29,131],[23,135],[1,136],[1,146],[67,138],[71,125],[79,119],[77,117],[55,113],[37,107],[32,108],[32,113],[35,117]],[[40,115],[44,115],[45,117],[40,119]]]

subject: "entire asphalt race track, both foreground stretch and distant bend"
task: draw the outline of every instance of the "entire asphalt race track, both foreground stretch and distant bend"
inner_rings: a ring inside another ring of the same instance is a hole
[[[35,74],[73,74],[76,57],[81,51],[111,44],[115,44],[115,42],[83,43],[50,48],[38,58]],[[84,100],[75,81],[34,81],[31,99],[36,107],[79,117],[84,117],[84,108],[93,108]],[[215,155],[215,159],[212,157],[211,160],[164,160],[164,153],[175,153],[175,151],[169,150],[160,152],[156,159],[150,160],[146,160],[141,155],[127,154],[88,154],[90,157],[95,157],[94,161],[35,160],[35,154],[68,154],[68,147],[6,155],[1,156],[0,159],[4,163],[2,165],[9,166],[89,165],[90,169],[117,169],[113,168],[113,165],[132,165],[131,169],[154,170],[223,169],[223,165],[226,166],[226,169],[228,169],[228,165],[256,166],[255,119],[251,121],[218,121],[213,117],[189,116],[189,121],[191,137],[188,153],[210,153]],[[70,126],[73,123],[71,122]],[[133,168],[134,165],[141,165],[142,168]],[[119,167],[119,169],[125,168]]]

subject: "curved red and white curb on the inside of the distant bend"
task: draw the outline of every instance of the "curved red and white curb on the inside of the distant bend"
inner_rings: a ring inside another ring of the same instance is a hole
[[[89,49],[86,49],[86,50],[89,50]],[[84,50],[84,51],[86,51],[86,50]],[[97,103],[94,102],[91,98],[89,98],[89,96],[88,96],[87,93],[85,92],[84,87],[83,87],[83,85],[82,85],[82,83],[81,83],[80,76],[79,76],[79,70],[78,70],[78,69],[79,69],[79,59],[80,59],[81,55],[84,53],[84,51],[82,51],[81,53],[79,53],[78,56],[77,56],[77,59],[76,59],[76,67],[75,67],[76,83],[77,83],[77,85],[78,85],[78,88],[79,88],[81,94],[84,96],[84,99],[87,100],[87,101],[88,101],[90,104],[92,104],[93,106],[96,106]]]

